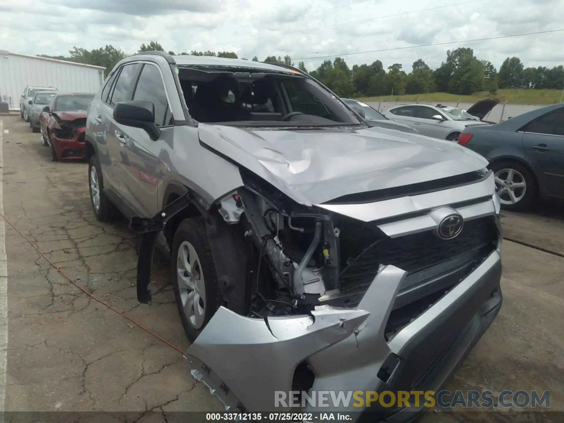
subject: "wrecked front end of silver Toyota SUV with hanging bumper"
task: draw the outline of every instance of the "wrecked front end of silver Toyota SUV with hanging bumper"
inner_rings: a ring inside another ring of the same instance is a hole
[[[365,417],[352,402],[318,408],[310,399],[316,391],[437,389],[497,315],[501,235],[491,173],[464,187],[314,206],[241,176],[244,186],[214,205],[187,193],[155,218],[132,221],[145,233],[138,298],[147,303],[152,248],[166,220],[189,205],[204,215],[225,304],[186,358],[226,409],[288,411],[296,406],[290,391],[299,391],[309,393],[298,399],[303,411]],[[287,401],[276,400],[280,393]],[[406,407],[368,411],[375,421]]]

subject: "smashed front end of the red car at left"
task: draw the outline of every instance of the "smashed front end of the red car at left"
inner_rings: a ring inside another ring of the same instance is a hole
[[[69,114],[69,113],[65,113]],[[63,116],[54,114],[55,122],[50,129],[51,142],[59,159],[84,158],[86,144],[86,117]]]

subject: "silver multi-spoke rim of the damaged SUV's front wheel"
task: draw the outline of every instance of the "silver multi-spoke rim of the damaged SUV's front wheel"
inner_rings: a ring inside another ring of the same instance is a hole
[[[177,283],[183,313],[193,328],[200,329],[206,312],[204,275],[198,254],[188,241],[180,244],[178,249]]]

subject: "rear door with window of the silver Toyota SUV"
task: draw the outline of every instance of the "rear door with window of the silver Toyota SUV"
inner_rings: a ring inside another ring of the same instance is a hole
[[[109,92],[107,102],[100,104],[100,120],[101,125],[105,130],[105,148],[107,158],[102,163],[100,158],[100,165],[102,166],[102,177],[105,187],[108,182],[112,190],[124,199],[125,191],[122,180],[120,178],[120,168],[122,165],[122,143],[124,140],[118,138],[118,135],[124,133],[124,127],[117,124],[113,119],[113,108],[119,102],[131,100],[133,96],[133,86],[136,80],[141,64],[139,62],[127,63],[120,69],[120,74],[116,78]],[[108,181],[108,182],[107,182]]]

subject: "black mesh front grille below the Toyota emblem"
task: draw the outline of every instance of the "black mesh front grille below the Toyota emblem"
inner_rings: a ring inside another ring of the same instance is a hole
[[[366,289],[380,266],[393,265],[416,274],[439,263],[467,254],[469,259],[484,257],[495,248],[497,231],[492,217],[473,219],[464,223],[459,236],[443,240],[434,231],[391,239],[382,237],[368,246],[358,257],[349,259],[340,275],[341,292]]]

